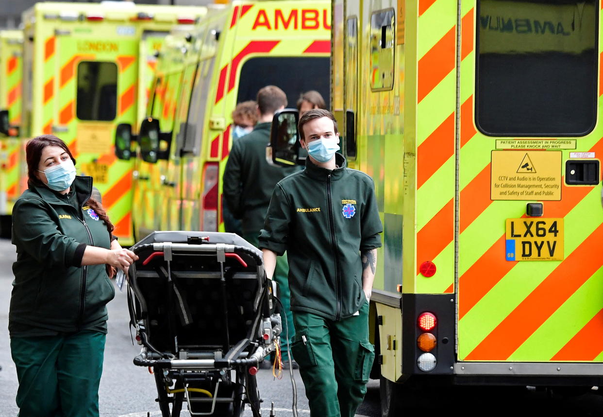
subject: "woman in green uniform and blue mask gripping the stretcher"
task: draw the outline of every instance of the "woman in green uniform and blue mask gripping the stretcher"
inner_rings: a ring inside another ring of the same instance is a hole
[[[137,259],[113,237],[92,177],[61,139],[27,142],[28,189],[13,208],[17,261],[8,331],[20,417],[98,416],[109,276]]]

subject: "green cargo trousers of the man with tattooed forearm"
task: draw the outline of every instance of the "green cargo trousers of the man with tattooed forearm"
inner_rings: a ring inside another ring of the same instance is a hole
[[[374,347],[368,341],[368,302],[338,322],[294,311],[293,357],[312,417],[353,417],[367,393]]]

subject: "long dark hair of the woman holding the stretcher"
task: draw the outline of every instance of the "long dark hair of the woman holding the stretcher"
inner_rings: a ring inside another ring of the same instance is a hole
[[[45,186],[44,183],[38,179],[37,171],[40,165],[40,158],[42,158],[42,150],[47,146],[58,146],[59,148],[63,149],[69,155],[69,158],[71,158],[71,161],[73,161],[75,165],[75,158],[69,150],[69,147],[61,139],[57,138],[57,136],[40,135],[30,139],[27,142],[27,145],[25,145],[25,159],[27,160],[28,178],[27,185],[30,188],[33,188],[34,186]],[[113,226],[113,223],[111,223],[109,220],[109,216],[107,215],[107,212],[101,203],[90,197],[85,205],[90,206],[90,208],[92,208],[96,214],[98,214],[98,217],[105,222],[107,232],[109,232],[109,235],[111,235],[113,229],[115,229],[115,226]],[[106,269],[109,277],[112,277],[115,274],[115,270],[110,265],[107,265]]]

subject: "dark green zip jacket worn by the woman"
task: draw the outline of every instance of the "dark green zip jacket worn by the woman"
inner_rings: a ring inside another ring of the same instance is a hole
[[[111,237],[104,221],[84,206],[92,177],[75,177],[72,189],[71,198],[77,198],[72,204],[46,186],[32,186],[14,205],[11,337],[84,329],[106,333],[106,304],[115,288],[104,265],[81,266],[81,260],[86,245],[109,249]]]

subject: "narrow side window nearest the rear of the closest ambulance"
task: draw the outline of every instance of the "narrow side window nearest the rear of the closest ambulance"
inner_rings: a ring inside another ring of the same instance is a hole
[[[393,9],[376,11],[371,15],[372,91],[388,91],[394,88],[395,16]]]

